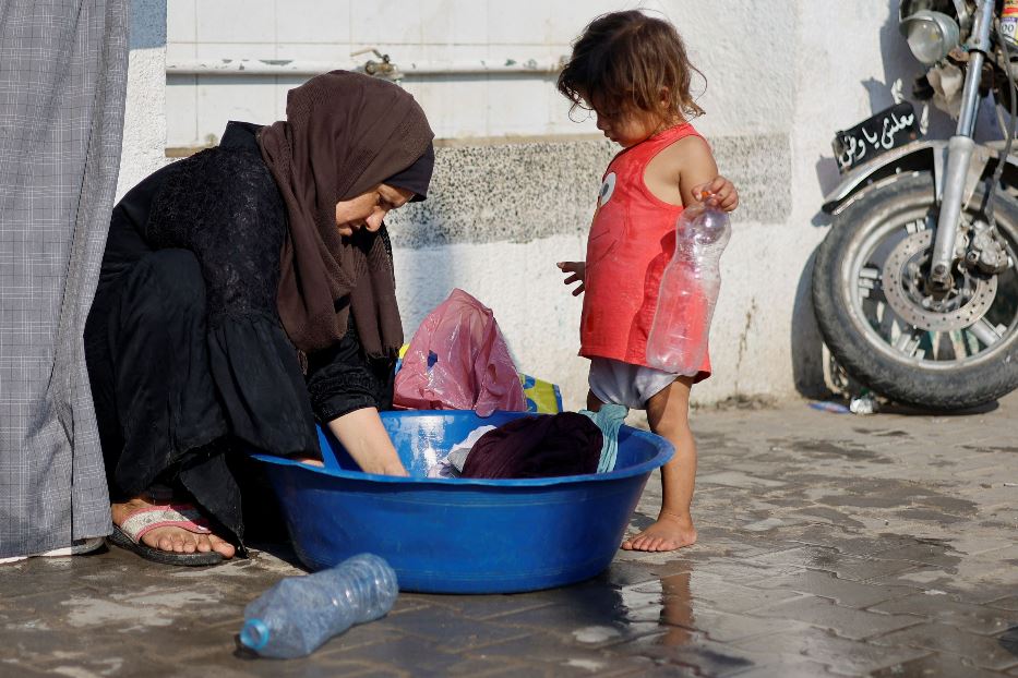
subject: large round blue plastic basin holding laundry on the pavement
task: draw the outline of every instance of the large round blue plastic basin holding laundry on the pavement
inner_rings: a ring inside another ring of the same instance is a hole
[[[518,416],[528,414],[383,412],[410,477],[363,473],[322,431],[325,468],[255,458],[268,464],[297,556],[312,570],[371,552],[396,570],[400,589],[431,593],[534,591],[594,577],[611,562],[647,477],[673,448],[623,426],[611,473],[427,477],[433,460],[471,431]]]

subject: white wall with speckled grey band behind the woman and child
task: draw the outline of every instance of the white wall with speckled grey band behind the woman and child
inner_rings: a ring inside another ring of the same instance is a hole
[[[553,60],[600,12],[597,0],[169,0],[167,59],[310,59],[356,64],[376,47],[397,64]],[[837,181],[830,138],[890,105],[918,74],[884,0],[669,0],[644,3],[680,27],[708,86],[696,122],[742,207],[722,259],[711,337],[715,376],[700,403],[782,398],[823,386],[809,301],[810,264],[826,233],[822,196]],[[582,9],[579,9],[582,8]],[[283,116],[302,78],[167,81],[168,144],[217,135],[230,118]],[[582,258],[599,178],[613,149],[591,121],[572,122],[552,75],[407,77],[439,137],[433,197],[395,215],[400,307],[408,330],[453,287],[490,305],[519,367],[559,382],[576,407],[580,301],[556,261]],[[934,125],[944,121],[933,116]]]

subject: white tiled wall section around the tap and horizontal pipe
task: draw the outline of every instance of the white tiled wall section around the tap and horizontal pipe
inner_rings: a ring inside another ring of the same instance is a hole
[[[404,66],[554,61],[568,53],[586,20],[616,5],[595,0],[577,12],[567,0],[170,0],[167,57],[171,63],[312,60],[354,68],[373,57],[352,52],[376,47]],[[254,122],[282,118],[287,89],[302,80],[171,75],[169,144],[203,143],[218,135],[224,114]],[[444,138],[595,131],[568,120],[552,80],[431,76],[404,84]]]

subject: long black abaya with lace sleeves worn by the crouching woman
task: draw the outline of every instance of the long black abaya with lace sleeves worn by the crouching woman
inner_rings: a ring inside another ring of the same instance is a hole
[[[352,327],[301,373],[276,311],[286,210],[255,131],[230,123],[118,204],[85,330],[113,501],[168,484],[238,541],[238,456],[318,456],[315,415],[392,402],[391,362]]]

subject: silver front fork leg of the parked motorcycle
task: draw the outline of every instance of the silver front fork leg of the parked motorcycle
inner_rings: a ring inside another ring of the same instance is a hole
[[[930,287],[947,291],[951,288],[951,263],[955,258],[955,242],[958,239],[958,226],[965,201],[966,183],[975,142],[975,116],[979,110],[979,84],[983,63],[990,53],[990,32],[993,29],[994,0],[980,0],[975,14],[975,25],[969,41],[969,65],[965,74],[965,89],[961,94],[961,116],[958,129],[947,144],[947,167],[944,172],[944,195],[941,199],[941,214],[937,218],[936,235],[933,241],[933,255],[930,262]],[[1005,158],[1001,159],[1002,162]]]

